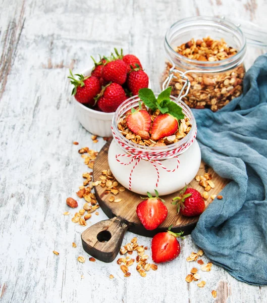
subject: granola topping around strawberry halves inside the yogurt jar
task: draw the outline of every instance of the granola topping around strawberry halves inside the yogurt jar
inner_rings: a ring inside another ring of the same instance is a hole
[[[151,116],[152,122],[154,119],[161,114],[161,112],[157,109],[155,112],[152,112],[151,110],[148,111]],[[164,137],[162,139],[159,139],[157,141],[149,139],[142,139],[139,135],[134,134],[129,127],[127,126],[127,115],[123,116],[119,122],[118,122],[118,129],[121,132],[121,134],[128,140],[132,141],[133,143],[137,143],[143,146],[165,146],[170,145],[175,142],[180,141],[183,139],[190,131],[191,129],[191,123],[187,117],[179,121],[179,128],[177,129],[176,133],[171,136]],[[148,132],[151,134],[151,131]]]

